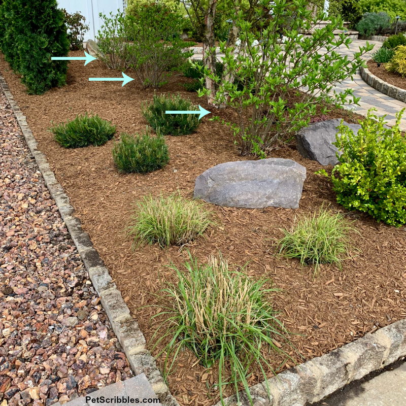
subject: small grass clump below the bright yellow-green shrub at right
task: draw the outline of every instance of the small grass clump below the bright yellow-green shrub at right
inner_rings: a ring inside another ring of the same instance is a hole
[[[321,207],[313,216],[293,222],[290,230],[277,245],[287,258],[299,258],[300,264],[315,265],[315,274],[322,263],[333,263],[341,268],[348,253],[350,231],[354,229],[342,214],[333,214]]]

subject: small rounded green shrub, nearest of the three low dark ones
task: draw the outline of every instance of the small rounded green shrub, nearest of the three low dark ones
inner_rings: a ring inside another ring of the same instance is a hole
[[[143,173],[156,171],[169,162],[168,147],[157,129],[157,136],[151,137],[149,128],[134,137],[123,132],[121,141],[114,143],[114,163],[120,172]]]

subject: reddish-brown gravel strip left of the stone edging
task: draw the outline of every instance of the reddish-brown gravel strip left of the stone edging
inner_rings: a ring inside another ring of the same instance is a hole
[[[0,401],[45,406],[131,378],[83,262],[0,92]]]

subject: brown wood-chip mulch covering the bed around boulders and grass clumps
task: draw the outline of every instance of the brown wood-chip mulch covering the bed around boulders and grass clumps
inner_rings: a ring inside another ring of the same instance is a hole
[[[89,77],[116,77],[120,73],[106,69],[99,61],[86,67],[82,62],[72,62],[65,87],[52,89],[42,96],[30,96],[18,75],[6,69],[8,65],[2,57],[0,71],[27,116],[39,149],[47,155],[58,182],[70,196],[76,216],[81,218],[133,317],[150,341],[156,328],[151,326],[150,318],[159,310],[143,306],[161,304],[159,296],[153,295],[161,287],[158,273],[166,272],[164,266],[171,262],[182,267],[188,254],[178,247],[162,250],[145,246],[133,251],[124,231],[132,202],[149,193],[155,196],[161,191],[169,193],[177,189],[191,198],[196,177],[209,167],[248,158],[240,156],[229,129],[208,121],[210,116],[207,116],[196,133],[166,137],[171,161],[163,170],[148,175],[119,174],[111,157],[113,141],[97,148],[65,150],[53,140],[47,127],[51,120],[59,123],[92,111],[117,124],[116,139],[121,131],[141,131],[146,125],[141,103],[152,99],[152,89],[142,89],[137,80],[124,87],[115,82],[89,82]],[[127,74],[135,77],[131,72]],[[180,84],[185,80],[174,76],[158,92],[179,92],[211,110],[205,99],[184,91]],[[232,111],[216,114],[226,121],[234,119]],[[344,117],[350,122],[360,118],[343,110],[328,117]],[[273,296],[273,306],[281,311],[280,319],[285,326],[299,333],[291,337],[302,354],[299,357],[292,352],[296,362],[328,353],[365,332],[406,317],[404,229],[377,223],[363,214],[347,213],[335,203],[331,184],[314,174],[321,165],[302,158],[294,147],[273,150],[272,156],[290,158],[306,166],[308,178],[300,208],[248,210],[207,205],[220,225],[209,230],[205,239],[185,248],[202,261],[221,251],[231,264],[249,262],[247,273],[251,277],[274,281],[281,291]],[[313,268],[302,268],[296,260],[278,258],[273,241],[283,235],[282,229],[290,227],[296,216],[313,213],[322,204],[329,204],[334,212],[346,213],[354,220],[354,227],[360,232],[354,236],[359,251],[351,251],[351,257],[343,262],[343,270],[323,265],[320,275],[312,280]],[[273,366],[278,367],[282,358],[274,354],[270,357]],[[218,400],[218,391],[212,389],[215,377],[204,375],[207,370],[196,361],[191,352],[183,352],[175,373],[168,377],[168,384],[181,404],[209,406]],[[285,362],[278,370],[292,365],[291,361]],[[261,374],[255,373],[250,384],[262,380]]]

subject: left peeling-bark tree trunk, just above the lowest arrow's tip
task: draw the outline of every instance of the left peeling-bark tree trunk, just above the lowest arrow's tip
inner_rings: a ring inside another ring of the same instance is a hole
[[[205,37],[203,39],[203,62],[208,70],[216,72],[216,51],[211,52],[210,48],[216,45],[214,39],[214,17],[216,16],[217,0],[209,0],[205,16]],[[207,101],[210,105],[216,104],[216,90],[214,82],[210,78],[206,78],[206,88],[210,90],[207,96]]]

